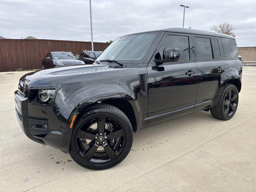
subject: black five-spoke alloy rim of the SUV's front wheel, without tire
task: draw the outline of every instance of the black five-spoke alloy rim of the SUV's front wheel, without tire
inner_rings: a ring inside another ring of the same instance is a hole
[[[76,132],[76,149],[88,162],[104,163],[115,159],[125,145],[122,126],[108,116],[84,122]]]

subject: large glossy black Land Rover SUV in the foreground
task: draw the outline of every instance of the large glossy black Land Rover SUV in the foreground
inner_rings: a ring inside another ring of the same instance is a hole
[[[24,75],[16,115],[28,138],[69,152],[85,168],[105,169],[128,155],[136,130],[199,110],[232,118],[241,77],[232,36],[143,32],[116,39],[94,65]]]

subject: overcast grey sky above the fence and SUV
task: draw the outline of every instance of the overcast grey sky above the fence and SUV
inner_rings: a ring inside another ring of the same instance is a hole
[[[256,46],[256,0],[92,0],[94,42],[154,29],[236,27],[238,46]],[[0,36],[90,40],[89,0],[0,0]]]

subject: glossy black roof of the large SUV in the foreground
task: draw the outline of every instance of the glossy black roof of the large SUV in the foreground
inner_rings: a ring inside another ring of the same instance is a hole
[[[147,32],[157,32],[157,31],[164,31],[164,32],[174,32],[174,33],[187,33],[187,34],[197,34],[197,35],[209,35],[209,36],[219,36],[219,37],[227,37],[234,39],[233,36],[222,34],[222,33],[216,33],[211,31],[203,31],[203,30],[197,30],[197,29],[189,29],[189,28],[165,28],[160,30],[153,30],[153,31],[147,31]],[[145,32],[140,32],[145,33]],[[140,34],[136,33],[136,34]]]

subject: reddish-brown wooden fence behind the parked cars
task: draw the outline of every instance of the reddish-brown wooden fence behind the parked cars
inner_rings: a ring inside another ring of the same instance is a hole
[[[109,43],[94,42],[94,51],[104,51]],[[39,69],[48,52],[66,51],[74,55],[91,50],[91,42],[45,39],[0,39],[0,72]]]

